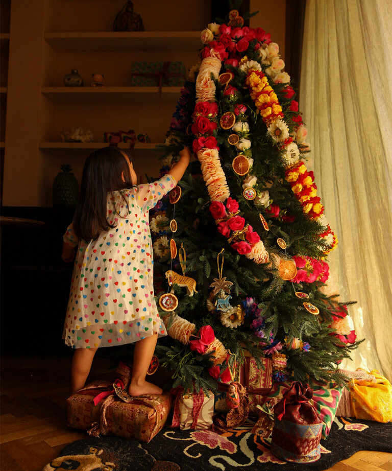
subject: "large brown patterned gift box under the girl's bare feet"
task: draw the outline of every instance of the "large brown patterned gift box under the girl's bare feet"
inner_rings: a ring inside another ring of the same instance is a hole
[[[122,402],[115,394],[96,406],[94,397],[110,391],[113,383],[92,383],[67,399],[68,427],[89,430],[91,435],[115,435],[149,442],[165,425],[171,394],[149,395]]]

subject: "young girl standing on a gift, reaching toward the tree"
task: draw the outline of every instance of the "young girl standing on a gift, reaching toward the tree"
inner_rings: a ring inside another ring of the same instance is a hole
[[[72,393],[83,388],[97,348],[134,342],[129,394],[162,393],[145,381],[157,339],[167,335],[154,300],[149,210],[174,189],[189,159],[185,148],[167,175],[136,186],[125,151],[105,147],[87,158],[74,221],[63,237],[65,262],[77,247],[63,332],[75,349]]]

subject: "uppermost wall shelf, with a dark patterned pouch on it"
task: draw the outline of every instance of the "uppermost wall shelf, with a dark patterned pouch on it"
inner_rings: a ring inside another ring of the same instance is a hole
[[[197,51],[200,31],[60,32],[45,33],[57,52]]]

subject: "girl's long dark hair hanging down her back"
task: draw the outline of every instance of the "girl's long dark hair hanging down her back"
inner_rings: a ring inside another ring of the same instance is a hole
[[[87,157],[73,223],[79,240],[96,239],[102,230],[113,227],[107,220],[108,193],[133,186],[124,154],[132,162],[129,152],[116,147],[104,147]],[[121,178],[122,172],[125,181]]]

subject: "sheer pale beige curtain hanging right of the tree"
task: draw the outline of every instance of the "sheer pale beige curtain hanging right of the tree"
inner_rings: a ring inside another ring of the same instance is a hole
[[[392,380],[390,0],[307,0],[300,109],[318,195],[339,245],[329,289],[365,342],[345,367]]]

